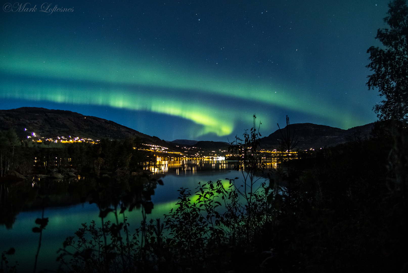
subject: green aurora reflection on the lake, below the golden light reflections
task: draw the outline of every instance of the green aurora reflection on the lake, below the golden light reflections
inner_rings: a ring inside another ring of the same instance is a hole
[[[235,175],[235,173],[234,173]],[[155,195],[153,195],[154,209],[152,213],[147,215],[148,221],[150,219],[161,218],[163,215],[168,214],[171,209],[176,208],[178,200],[177,191],[175,188],[181,186],[188,187],[192,193],[195,193],[197,187],[197,181],[213,180],[217,181],[224,176],[228,176],[228,172],[205,172],[204,175],[166,175],[163,178],[163,188],[159,186],[156,192],[160,191],[163,194],[159,197],[166,196],[166,201],[155,201]],[[166,179],[167,178],[167,179]],[[224,187],[228,187],[228,180],[222,179]],[[169,189],[166,189],[169,186]],[[174,195],[169,195],[167,191],[175,191]],[[170,198],[170,200],[169,200]],[[191,198],[192,202],[197,201],[197,195]],[[142,214],[140,210],[133,210],[131,212],[125,211],[125,216],[128,218],[130,224],[130,231],[133,233],[137,227],[140,226],[142,221]],[[13,224],[12,229],[6,229],[5,226],[0,226],[0,234],[2,240],[0,241],[0,250],[7,250],[10,247],[16,249],[16,254],[10,256],[10,262],[18,260],[18,269],[20,272],[28,272],[32,270],[34,264],[34,257],[38,247],[38,233],[32,233],[31,229],[35,226],[35,219],[41,217],[41,211],[29,211],[22,212],[17,215],[16,222]],[[62,247],[62,242],[67,236],[73,236],[74,232],[81,227],[81,223],[90,224],[92,220],[95,220],[97,226],[101,225],[101,218],[99,218],[99,209],[96,204],[78,204],[69,207],[53,207],[46,208],[44,211],[44,217],[49,218],[49,224],[43,231],[42,245],[40,249],[40,255],[38,257],[38,269],[55,269],[58,266],[58,262],[55,262],[58,254],[56,251]],[[119,221],[123,220],[123,216],[119,215]],[[104,221],[115,222],[115,215],[109,213]]]

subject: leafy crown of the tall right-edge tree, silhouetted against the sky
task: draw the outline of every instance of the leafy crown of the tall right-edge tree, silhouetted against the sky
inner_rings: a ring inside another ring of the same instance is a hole
[[[368,76],[368,89],[378,88],[385,99],[374,107],[380,120],[408,118],[408,7],[406,0],[395,0],[388,4],[388,16],[384,18],[390,29],[378,29],[376,39],[384,49],[370,47],[371,62],[367,65],[372,75]]]

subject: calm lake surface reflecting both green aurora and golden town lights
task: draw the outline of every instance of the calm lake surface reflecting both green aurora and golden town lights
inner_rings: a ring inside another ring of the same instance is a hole
[[[175,207],[180,187],[189,188],[195,192],[198,182],[225,180],[226,178],[240,177],[233,168],[238,162],[226,161],[160,161],[155,166],[149,167],[153,175],[161,178],[163,186],[157,186],[152,196],[154,209],[150,218],[161,218]],[[275,163],[271,163],[275,164]],[[28,183],[28,182],[26,182]],[[59,183],[67,183],[60,181]],[[69,199],[65,194],[65,199]],[[71,200],[71,199],[70,199]],[[39,233],[31,229],[36,226],[35,219],[41,218],[42,210],[22,211],[16,216],[11,229],[0,226],[0,251],[10,247],[16,249],[16,254],[9,256],[9,261],[14,264],[18,261],[19,272],[32,271],[35,253],[38,248]],[[139,210],[125,212],[131,230],[140,226],[142,216]],[[42,233],[42,245],[38,257],[38,271],[42,269],[55,269],[58,263],[56,251],[62,247],[62,242],[67,236],[73,236],[80,228],[81,223],[90,223],[95,220],[100,224],[99,209],[96,204],[80,203],[69,206],[46,207],[44,217],[49,218],[49,224]],[[106,220],[113,220],[110,213]]]

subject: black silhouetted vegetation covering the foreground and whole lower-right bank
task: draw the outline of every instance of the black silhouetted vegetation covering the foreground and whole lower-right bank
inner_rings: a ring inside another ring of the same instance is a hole
[[[401,122],[378,122],[370,138],[268,170],[253,129],[231,146],[244,154],[239,178],[180,189],[161,220],[146,220],[161,180],[95,180],[86,198],[100,219],[67,238],[58,271],[405,272],[407,135]],[[135,207],[144,218],[137,229],[125,216]],[[108,213],[114,222],[104,220]],[[35,232],[47,220],[39,218]]]

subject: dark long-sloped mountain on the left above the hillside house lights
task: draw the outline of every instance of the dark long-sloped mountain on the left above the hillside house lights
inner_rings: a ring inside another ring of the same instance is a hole
[[[64,110],[37,107],[0,110],[0,130],[11,127],[21,138],[27,138],[32,132],[45,138],[71,135],[93,140],[124,140],[127,137],[138,137],[145,144],[166,146],[166,142],[160,138],[145,135],[111,120]]]

